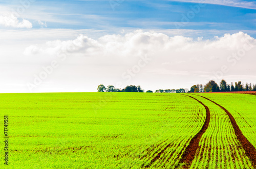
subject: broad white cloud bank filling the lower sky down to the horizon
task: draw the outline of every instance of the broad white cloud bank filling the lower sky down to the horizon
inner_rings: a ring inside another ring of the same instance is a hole
[[[124,86],[140,85],[148,90],[190,88],[194,85],[190,81],[205,83],[215,79],[223,65],[229,71],[223,73],[221,79],[227,79],[228,83],[256,82],[251,78],[256,71],[256,42],[243,32],[225,31],[232,34],[222,36],[212,32],[207,38],[203,31],[191,30],[179,36],[175,36],[179,30],[122,32],[125,34],[97,30],[2,30],[1,68],[8,71],[2,73],[1,78],[8,83],[26,84],[33,81],[34,74],[44,70],[42,67],[56,60],[59,67],[45,80],[53,81],[52,85],[43,83],[35,92],[56,92],[61,88],[65,88],[62,92],[76,88],[94,92],[98,84],[115,85],[118,81]],[[240,52],[244,45],[252,48],[243,57],[232,57],[232,53]],[[22,52],[27,56],[21,55]],[[57,57],[65,52],[69,54],[66,60]],[[127,82],[122,74],[133,70],[145,55],[151,60],[145,65],[142,63],[139,73]],[[4,85],[1,89],[7,92],[7,88],[9,92],[29,92],[27,86],[21,89]]]

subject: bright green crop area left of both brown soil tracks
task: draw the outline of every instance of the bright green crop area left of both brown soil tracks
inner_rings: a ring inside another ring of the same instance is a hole
[[[1,94],[0,99],[1,114],[9,116],[12,168],[140,168],[155,157],[155,147],[169,143],[173,156],[164,160],[173,163],[205,116],[201,104],[178,94]]]

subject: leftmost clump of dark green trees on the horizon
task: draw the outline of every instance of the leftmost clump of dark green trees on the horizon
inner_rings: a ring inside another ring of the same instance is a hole
[[[140,86],[126,86],[124,89],[115,89],[114,86],[108,86],[105,88],[104,85],[98,86],[98,92],[144,92]]]

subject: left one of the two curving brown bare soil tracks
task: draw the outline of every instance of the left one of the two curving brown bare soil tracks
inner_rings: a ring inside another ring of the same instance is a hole
[[[188,96],[188,95],[185,95]],[[191,97],[191,96],[188,96]],[[194,97],[191,97],[195,100],[197,100]],[[191,165],[192,161],[195,158],[197,149],[200,147],[199,146],[199,141],[202,137],[202,135],[205,133],[206,129],[209,126],[210,123],[210,110],[209,108],[202,103],[201,101],[197,100],[200,104],[202,104],[204,106],[204,108],[206,109],[206,118],[205,118],[205,122],[203,124],[203,127],[201,128],[201,130],[190,140],[189,145],[186,147],[184,153],[182,154],[180,163],[185,163],[185,165],[183,165],[183,168],[189,168],[189,166]]]

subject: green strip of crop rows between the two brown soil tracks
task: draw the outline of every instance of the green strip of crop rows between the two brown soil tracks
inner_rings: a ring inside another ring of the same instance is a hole
[[[211,119],[190,168],[251,168],[226,112],[204,98],[193,97],[209,107]]]

